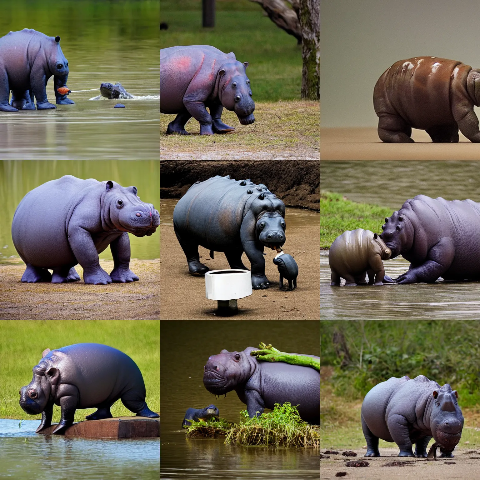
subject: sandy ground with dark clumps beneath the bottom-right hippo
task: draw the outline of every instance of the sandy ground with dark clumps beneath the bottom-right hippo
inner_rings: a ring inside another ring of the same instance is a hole
[[[344,450],[337,450],[340,454]],[[322,449],[324,452],[324,449]],[[337,472],[347,472],[346,479],[478,479],[480,478],[480,454],[477,450],[458,449],[454,458],[439,458],[427,460],[425,458],[398,457],[396,448],[380,448],[380,457],[365,458],[365,450],[354,450],[356,457],[330,455],[320,462],[320,478],[322,480],[335,479]],[[440,450],[438,450],[440,453]],[[368,467],[346,467],[345,463],[351,460],[365,460]],[[400,467],[386,467],[390,462],[405,462]],[[455,462],[453,464],[446,462]]]

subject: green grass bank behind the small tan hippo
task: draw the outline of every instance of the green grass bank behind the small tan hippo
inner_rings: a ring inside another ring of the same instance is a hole
[[[339,193],[320,193],[320,248],[330,245],[345,230],[365,228],[380,232],[385,217],[392,209],[371,204],[358,204]]]

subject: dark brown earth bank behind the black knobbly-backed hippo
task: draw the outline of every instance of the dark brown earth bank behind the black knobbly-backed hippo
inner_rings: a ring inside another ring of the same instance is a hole
[[[287,206],[320,209],[320,162],[236,160],[160,162],[160,198],[180,198],[196,181],[215,175],[264,183]]]

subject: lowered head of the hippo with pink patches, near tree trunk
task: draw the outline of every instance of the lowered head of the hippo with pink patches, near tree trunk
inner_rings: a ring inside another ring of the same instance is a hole
[[[224,63],[218,72],[220,102],[227,110],[233,110],[237,114],[242,125],[249,125],[255,121],[253,116],[255,103],[252,100],[250,80],[245,73],[247,67],[247,61],[240,63],[238,60],[232,60]]]

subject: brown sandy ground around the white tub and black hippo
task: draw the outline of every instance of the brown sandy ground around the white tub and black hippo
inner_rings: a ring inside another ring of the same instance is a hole
[[[216,301],[205,298],[205,280],[188,272],[185,255],[171,226],[160,230],[160,312],[164,320],[206,320],[214,318]],[[265,251],[265,274],[270,288],[253,290],[250,297],[238,300],[239,314],[230,317],[235,320],[289,320],[320,318],[320,270],[319,270],[320,229],[317,226],[299,228],[288,233],[285,252],[295,257],[299,265],[298,288],[290,292],[278,288],[278,270],[272,262],[274,252]],[[297,245],[295,249],[287,246]],[[211,259],[209,252],[199,247],[200,262],[211,270],[230,268],[225,255],[216,252]],[[245,254],[243,263],[250,262]],[[286,281],[284,280],[284,286]]]

